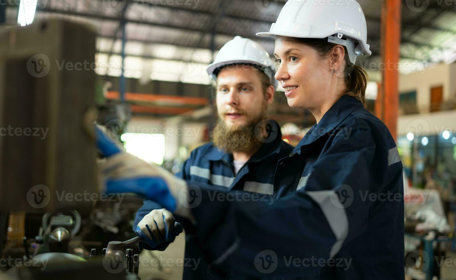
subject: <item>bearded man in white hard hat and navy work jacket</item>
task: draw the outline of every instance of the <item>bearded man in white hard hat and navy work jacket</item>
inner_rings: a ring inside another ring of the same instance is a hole
[[[275,71],[266,50],[250,39],[237,36],[220,49],[207,67],[214,82],[218,111],[212,142],[193,150],[177,177],[256,192],[261,194],[259,199],[265,195],[272,199],[277,161],[293,151],[282,141],[279,125],[267,117],[278,85]],[[170,211],[146,199],[136,214],[133,230],[138,224],[148,224],[156,246],[140,243],[140,247],[164,250],[178,234],[174,232],[174,222]],[[191,225],[185,224],[185,228],[185,258],[201,261],[198,267],[185,266],[183,279],[206,279],[210,272],[192,236]]]

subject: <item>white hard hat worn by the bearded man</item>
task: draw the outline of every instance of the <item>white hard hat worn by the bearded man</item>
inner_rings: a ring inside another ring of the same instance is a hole
[[[253,64],[259,67],[271,79],[277,89],[278,81],[274,78],[276,69],[269,53],[257,42],[240,36],[227,42],[218,52],[214,62],[207,66],[207,74],[217,81],[217,69],[232,64]]]

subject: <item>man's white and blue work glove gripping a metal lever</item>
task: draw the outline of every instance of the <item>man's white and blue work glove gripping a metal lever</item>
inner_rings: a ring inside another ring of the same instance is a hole
[[[136,227],[136,234],[140,236],[142,242],[154,249],[173,242],[182,231],[182,224],[175,222],[172,213],[166,209],[150,211]]]

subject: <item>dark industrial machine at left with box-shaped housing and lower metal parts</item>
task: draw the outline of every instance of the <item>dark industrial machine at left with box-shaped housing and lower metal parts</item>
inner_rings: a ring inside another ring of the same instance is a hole
[[[93,123],[129,117],[128,107],[96,104],[94,67],[85,23],[0,29],[0,279],[139,278],[137,245],[127,247],[140,238],[109,241],[135,236],[140,198],[119,209],[75,196],[99,194]]]

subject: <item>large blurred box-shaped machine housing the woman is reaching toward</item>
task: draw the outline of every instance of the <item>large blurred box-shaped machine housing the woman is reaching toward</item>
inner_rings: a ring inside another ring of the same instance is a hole
[[[84,128],[95,121],[85,116],[95,108],[96,74],[58,65],[94,63],[95,35],[88,24],[57,18],[0,28],[0,127],[21,130],[0,137],[0,193],[8,194],[1,211],[93,207],[62,197],[98,192],[96,149]]]

